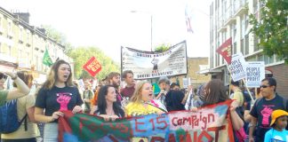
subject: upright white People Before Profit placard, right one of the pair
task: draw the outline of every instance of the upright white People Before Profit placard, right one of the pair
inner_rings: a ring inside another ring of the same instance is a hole
[[[265,78],[264,61],[249,61],[246,62],[246,86],[259,87],[261,80]]]

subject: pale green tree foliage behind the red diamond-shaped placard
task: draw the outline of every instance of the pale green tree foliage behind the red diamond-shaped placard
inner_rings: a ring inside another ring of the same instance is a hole
[[[106,56],[103,51],[100,51],[96,47],[78,47],[68,51],[68,56],[74,59],[74,74],[76,78],[84,77],[90,78],[89,75],[84,69],[83,65],[87,62],[88,59],[94,56],[101,64],[102,69],[96,75],[98,79],[103,79],[110,72],[116,71],[120,73],[120,66],[116,64],[112,59]]]

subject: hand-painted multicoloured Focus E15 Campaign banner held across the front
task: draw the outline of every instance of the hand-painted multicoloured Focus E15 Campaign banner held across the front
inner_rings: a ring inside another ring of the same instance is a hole
[[[234,141],[228,114],[231,100],[205,106],[197,113],[175,111],[105,122],[90,114],[64,112],[59,119],[61,142],[201,142]]]

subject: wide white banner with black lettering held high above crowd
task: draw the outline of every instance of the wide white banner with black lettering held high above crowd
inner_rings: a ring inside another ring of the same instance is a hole
[[[186,41],[163,52],[122,47],[121,54],[122,72],[132,70],[135,79],[187,74]]]

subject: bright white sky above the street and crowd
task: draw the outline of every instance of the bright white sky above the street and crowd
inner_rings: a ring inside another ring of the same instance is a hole
[[[0,0],[0,6],[9,12],[29,12],[30,25],[51,25],[65,34],[72,45],[96,46],[120,63],[121,46],[151,51],[151,27],[153,49],[163,43],[174,45],[186,40],[188,57],[208,57],[211,2]],[[187,32],[186,8],[193,33]]]

